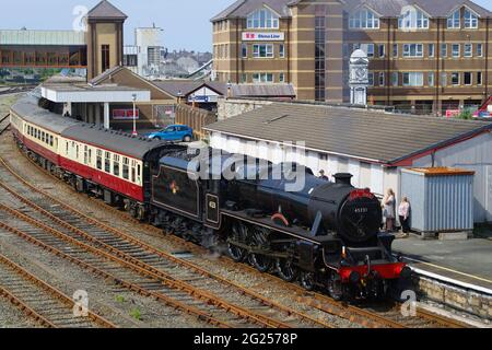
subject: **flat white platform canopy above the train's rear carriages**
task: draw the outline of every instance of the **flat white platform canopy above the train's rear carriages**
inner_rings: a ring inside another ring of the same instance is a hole
[[[132,103],[150,102],[150,90],[120,85],[48,84],[42,96],[55,103]]]

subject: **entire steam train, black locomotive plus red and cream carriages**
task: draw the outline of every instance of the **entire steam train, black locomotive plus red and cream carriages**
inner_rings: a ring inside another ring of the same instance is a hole
[[[209,149],[197,156],[63,118],[32,96],[12,106],[11,125],[21,150],[79,192],[307,290],[382,298],[410,278],[391,254],[394,236],[379,232],[380,202],[354,188],[350,174],[328,183],[295,164],[248,163]],[[233,178],[224,177],[225,166]],[[293,172],[303,186],[288,191]]]

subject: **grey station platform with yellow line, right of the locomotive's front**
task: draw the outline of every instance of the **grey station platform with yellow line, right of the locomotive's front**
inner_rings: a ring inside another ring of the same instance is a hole
[[[396,240],[394,249],[419,275],[492,295],[491,240],[422,241],[410,235]]]

